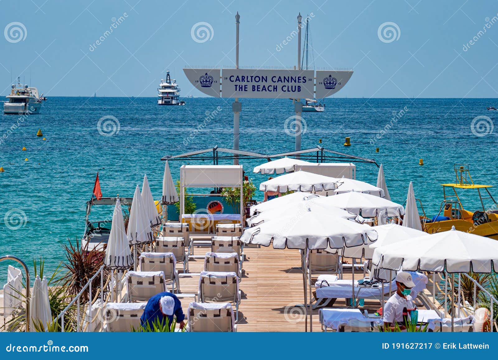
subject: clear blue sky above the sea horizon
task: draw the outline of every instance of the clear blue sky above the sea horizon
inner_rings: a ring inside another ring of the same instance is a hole
[[[47,96],[96,91],[99,96],[155,97],[169,69],[182,96],[202,96],[182,68],[233,66],[239,11],[241,66],[296,65],[297,38],[291,35],[296,17],[313,13],[316,67],[355,70],[339,97],[498,96],[496,0],[4,0],[0,5],[0,94],[8,91],[12,71],[26,83],[31,74],[32,85]],[[207,41],[191,36],[199,22],[210,26]],[[385,22],[397,25],[393,41],[378,35]],[[15,31],[10,34],[15,27],[22,39]]]

